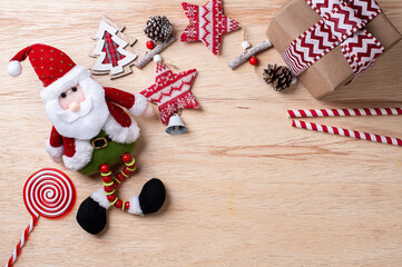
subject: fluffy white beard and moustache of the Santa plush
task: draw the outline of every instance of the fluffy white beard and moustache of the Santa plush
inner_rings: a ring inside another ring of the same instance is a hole
[[[46,113],[61,136],[88,140],[99,134],[109,116],[109,109],[105,89],[92,78],[81,79],[79,86],[85,101],[80,103],[78,112],[62,109],[57,97],[46,102]]]

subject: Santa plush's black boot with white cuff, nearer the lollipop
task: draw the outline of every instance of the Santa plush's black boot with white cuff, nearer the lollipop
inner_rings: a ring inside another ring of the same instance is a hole
[[[104,189],[95,191],[90,197],[81,202],[77,212],[77,221],[84,230],[97,235],[106,226],[106,207],[109,202],[105,201]]]

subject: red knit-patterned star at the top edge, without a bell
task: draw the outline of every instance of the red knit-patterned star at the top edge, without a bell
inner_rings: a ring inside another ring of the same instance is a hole
[[[239,28],[236,20],[224,14],[222,0],[209,0],[203,7],[183,2],[182,7],[189,20],[189,26],[183,32],[180,40],[200,40],[214,55],[219,52],[222,34]]]

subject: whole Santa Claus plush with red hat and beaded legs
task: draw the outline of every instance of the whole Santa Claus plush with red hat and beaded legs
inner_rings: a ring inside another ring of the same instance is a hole
[[[9,62],[8,72],[21,73],[21,61],[29,58],[43,83],[40,96],[53,127],[46,150],[56,162],[84,175],[100,171],[104,188],[82,201],[78,224],[90,234],[106,226],[106,210],[115,206],[129,214],[147,215],[159,210],[165,187],[159,179],[147,181],[138,196],[122,201],[116,189],[136,168],[133,152],[139,128],[133,116],[151,116],[153,105],[139,93],[129,93],[96,82],[90,71],[77,66],[65,52],[46,44],[19,51]],[[124,161],[116,176],[109,166]]]

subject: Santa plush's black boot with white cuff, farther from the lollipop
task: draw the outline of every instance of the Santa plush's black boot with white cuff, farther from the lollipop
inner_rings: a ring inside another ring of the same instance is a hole
[[[158,211],[165,202],[166,190],[161,180],[153,178],[147,181],[139,196],[128,199],[129,214],[148,215]]]

